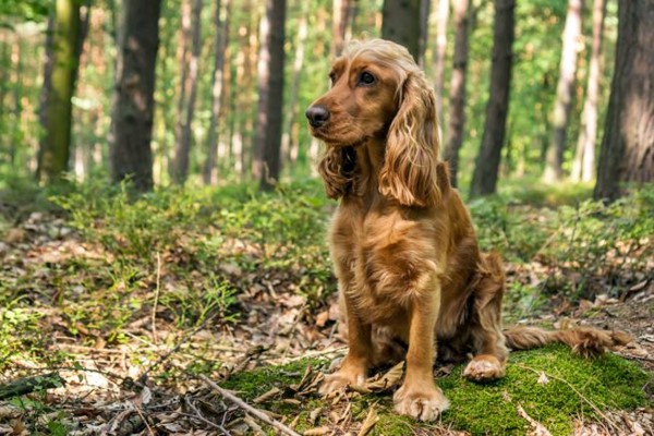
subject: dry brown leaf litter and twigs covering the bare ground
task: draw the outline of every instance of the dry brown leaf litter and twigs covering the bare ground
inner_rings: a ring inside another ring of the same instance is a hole
[[[96,262],[104,254],[80,241],[74,232],[62,235],[61,226],[57,238],[48,237],[48,226],[37,222],[24,230],[24,234],[14,232],[0,243],[0,280],[7,284],[22,275],[33,275],[35,282],[29,289],[38,292],[25,298],[32,299],[35,310],[44,315],[40,334],[49,338],[41,349],[44,356],[65,352],[73,364],[51,367],[34,355],[3,356],[0,384],[57,372],[65,380],[65,387],[49,389],[45,397],[34,397],[28,402],[0,401],[0,434],[34,433],[35,428],[45,428],[47,422],[60,423],[70,435],[225,434],[220,424],[202,416],[219,415],[225,424],[238,415],[238,408],[207,411],[207,404],[216,401],[216,396],[193,375],[197,374],[194,367],[206,365],[207,372],[213,371],[211,377],[219,382],[256,367],[315,356],[336,360],[346,352],[335,323],[334,296],[316,304],[296,292],[296,277],[291,272],[244,272],[234,265],[220,268],[222,274],[238,277],[240,283],[247,283],[238,295],[241,316],[235,322],[211,317],[195,328],[180,330],[169,322],[165,311],[150,313],[146,307],[133,314],[120,343],[110,342],[84,326],[73,326],[73,331],[50,304],[57,295],[47,293],[52,279],[48,271],[64,270],[63,266],[73,257]],[[153,275],[148,280],[154,282],[158,278]],[[162,289],[166,286],[162,277]],[[152,293],[154,286],[145,288],[144,292]],[[152,294],[145,293],[144,301],[148,299]],[[629,289],[621,301],[598,295],[593,301],[582,300],[566,305],[565,310],[560,307],[559,301],[552,300],[549,306],[541,307],[525,320],[557,328],[590,325],[623,330],[633,341],[614,352],[654,374],[653,277]],[[25,343],[27,347],[28,341]],[[217,362],[220,367],[211,370]],[[164,376],[171,378],[166,382]],[[645,390],[652,400],[654,387],[646,386]],[[614,422],[620,423],[623,434],[653,434],[652,405],[629,413],[609,413]],[[250,428],[255,428],[255,424]],[[439,434],[461,434],[447,432],[441,429]],[[576,429],[579,435],[611,432],[592,422],[580,422]]]

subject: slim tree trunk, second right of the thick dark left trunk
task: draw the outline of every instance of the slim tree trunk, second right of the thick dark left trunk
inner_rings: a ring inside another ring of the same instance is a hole
[[[220,17],[221,1],[216,2],[214,13],[214,27],[216,36],[214,39],[214,74],[211,78],[211,120],[207,134],[207,160],[205,161],[203,178],[205,184],[215,184],[218,181],[218,117],[220,117],[220,102],[222,100],[222,70],[225,68],[225,49],[229,37],[229,9],[230,0],[223,1],[225,22]]]

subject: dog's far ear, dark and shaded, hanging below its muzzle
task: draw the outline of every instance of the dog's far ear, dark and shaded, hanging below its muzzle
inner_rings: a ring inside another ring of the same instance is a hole
[[[338,199],[352,190],[355,159],[352,147],[327,147],[318,172],[329,198]]]

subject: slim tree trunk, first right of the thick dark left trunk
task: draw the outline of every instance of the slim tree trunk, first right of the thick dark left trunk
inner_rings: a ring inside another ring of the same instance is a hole
[[[183,184],[189,178],[189,161],[191,157],[191,143],[193,140],[193,113],[195,112],[195,99],[197,95],[197,63],[202,44],[202,7],[203,0],[193,0],[191,16],[191,60],[189,62],[189,100],[183,113],[183,122],[180,125],[180,140],[175,152],[173,181]],[[183,104],[183,101],[182,101]]]

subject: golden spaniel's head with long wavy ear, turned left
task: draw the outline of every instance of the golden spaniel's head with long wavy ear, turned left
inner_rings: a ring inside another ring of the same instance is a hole
[[[379,192],[404,206],[436,204],[440,193],[435,96],[409,51],[383,39],[353,41],[329,77],[330,89],[314,101],[306,117],[312,134],[327,145],[331,167],[344,155],[339,148],[383,140]],[[330,168],[329,173],[339,170]],[[338,197],[341,191],[337,186],[330,196]]]

